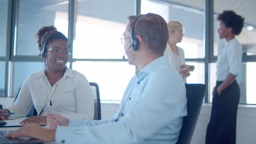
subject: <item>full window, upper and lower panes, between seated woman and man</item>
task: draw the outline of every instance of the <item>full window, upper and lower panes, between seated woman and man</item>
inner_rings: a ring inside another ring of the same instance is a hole
[[[127,17],[135,13],[135,1],[77,2],[73,69],[98,83],[101,100],[121,100],[135,74],[135,67],[122,59],[125,51],[120,41]]]

